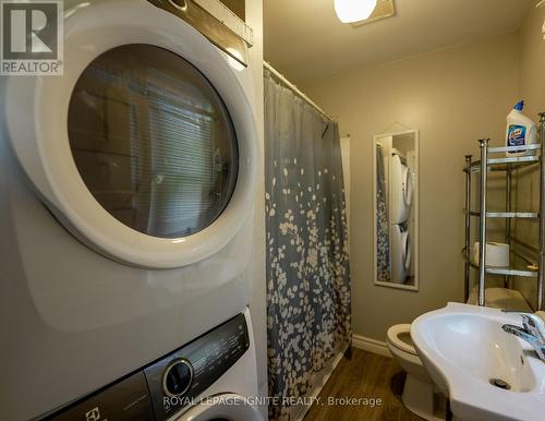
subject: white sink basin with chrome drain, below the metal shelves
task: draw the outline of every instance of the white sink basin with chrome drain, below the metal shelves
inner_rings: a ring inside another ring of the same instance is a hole
[[[506,323],[520,326],[521,317],[459,303],[412,323],[419,356],[456,418],[545,420],[545,362],[530,345],[505,333]],[[510,388],[500,388],[502,383]]]

